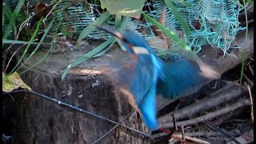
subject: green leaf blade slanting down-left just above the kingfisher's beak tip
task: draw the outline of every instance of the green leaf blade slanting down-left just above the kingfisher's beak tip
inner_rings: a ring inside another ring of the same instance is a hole
[[[89,26],[86,26],[84,30],[82,30],[81,34],[78,37],[78,43],[82,41],[83,38],[86,38],[92,31],[96,29],[95,26],[100,26],[106,19],[110,18],[110,12],[106,11],[100,17],[98,17],[94,22],[91,22]]]

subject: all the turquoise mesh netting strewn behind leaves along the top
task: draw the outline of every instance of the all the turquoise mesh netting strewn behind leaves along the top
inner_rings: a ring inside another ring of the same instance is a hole
[[[62,0],[60,5],[56,6],[56,9],[63,9],[70,2],[72,0]],[[201,50],[203,45],[210,44],[222,49],[224,54],[226,54],[226,50],[230,48],[230,44],[234,41],[238,30],[243,29],[238,25],[238,14],[241,8],[230,0],[201,0],[199,2],[197,0],[186,0],[186,2],[189,2],[191,6],[184,6],[176,2],[173,2],[173,4],[189,24],[191,35],[187,36],[182,32],[180,23],[174,18],[174,15],[168,8],[166,8],[165,26],[173,30],[175,34],[195,51]],[[5,3],[10,7],[14,7],[15,2],[6,1]],[[165,6],[166,4],[162,0],[146,1],[143,10],[150,17],[158,20]],[[77,3],[58,13],[58,20],[63,18],[62,25],[68,24],[74,27],[76,30],[74,36],[78,36],[86,26],[94,22],[102,13],[100,4],[97,1],[88,1]],[[114,18],[110,19],[107,24],[114,26]],[[150,22],[142,22],[130,18],[126,28],[142,34],[143,38],[148,40],[155,37],[151,25]],[[144,33],[141,33],[142,30],[144,30]],[[106,39],[110,38],[110,35],[101,30],[94,30],[88,37]],[[176,46],[175,43],[170,48],[174,46]]]

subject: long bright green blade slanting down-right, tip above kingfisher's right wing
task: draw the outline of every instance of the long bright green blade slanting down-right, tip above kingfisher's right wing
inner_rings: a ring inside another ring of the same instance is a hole
[[[163,33],[166,34],[167,37],[171,38],[178,46],[184,48],[185,50],[190,50],[190,47],[186,45],[185,42],[182,41],[181,38],[178,38],[178,36],[176,34],[174,34],[173,31],[171,31],[170,29],[168,29],[166,26],[163,26],[161,23],[159,23],[158,21],[154,20],[154,18],[150,18],[150,16],[148,16],[145,13],[142,13],[143,16],[149,21],[152,22],[154,24],[154,26],[157,26],[158,29],[162,30]]]

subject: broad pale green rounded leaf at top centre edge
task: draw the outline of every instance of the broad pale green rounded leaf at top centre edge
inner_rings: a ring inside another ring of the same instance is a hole
[[[120,14],[139,18],[145,0],[100,0],[102,9],[110,11],[111,14]]]

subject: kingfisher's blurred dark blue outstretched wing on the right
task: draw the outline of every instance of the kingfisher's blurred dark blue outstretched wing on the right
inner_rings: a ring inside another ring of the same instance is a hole
[[[219,76],[210,66],[186,58],[166,63],[164,74],[166,74],[166,82],[159,79],[157,93],[166,98],[193,94],[207,82]]]

